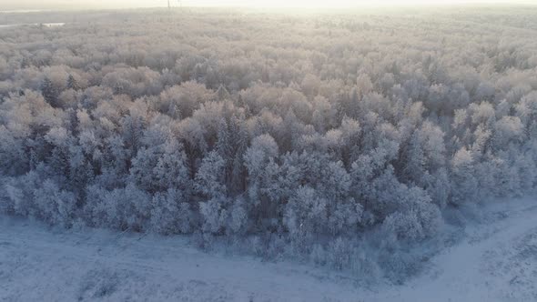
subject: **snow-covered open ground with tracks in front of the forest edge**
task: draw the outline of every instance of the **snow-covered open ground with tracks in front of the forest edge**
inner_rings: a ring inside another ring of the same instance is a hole
[[[0,301],[537,301],[537,202],[485,209],[419,277],[375,287],[309,266],[208,255],[182,237],[0,217]]]

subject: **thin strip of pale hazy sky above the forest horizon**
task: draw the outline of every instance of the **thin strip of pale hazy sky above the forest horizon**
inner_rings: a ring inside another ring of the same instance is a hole
[[[170,0],[177,5],[177,0]],[[185,6],[352,7],[359,5],[451,5],[467,3],[524,3],[537,0],[182,0]],[[54,8],[127,8],[167,6],[167,0],[0,0],[1,10]]]

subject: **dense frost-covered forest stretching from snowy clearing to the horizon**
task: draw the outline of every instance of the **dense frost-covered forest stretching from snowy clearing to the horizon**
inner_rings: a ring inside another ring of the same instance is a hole
[[[7,215],[363,271],[537,185],[535,8],[76,14],[0,15]]]

